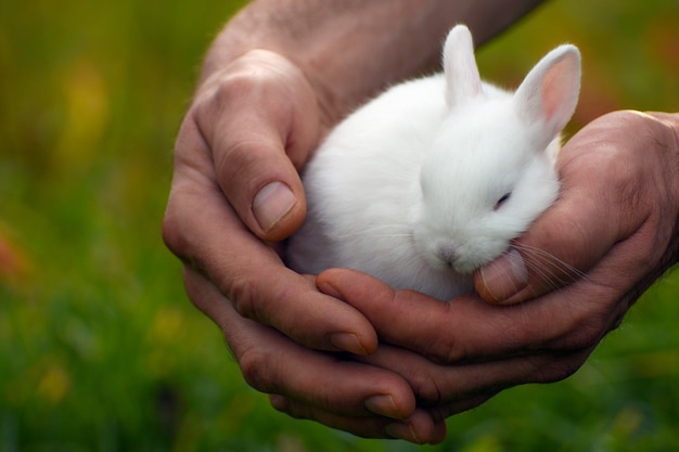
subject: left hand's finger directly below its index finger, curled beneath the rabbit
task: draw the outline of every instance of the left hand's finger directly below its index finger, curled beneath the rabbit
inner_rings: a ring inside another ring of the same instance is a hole
[[[241,318],[200,273],[188,270],[185,282],[190,297],[223,331],[245,380],[255,389],[340,416],[406,419],[412,415],[414,397],[400,376],[307,349],[273,328]]]

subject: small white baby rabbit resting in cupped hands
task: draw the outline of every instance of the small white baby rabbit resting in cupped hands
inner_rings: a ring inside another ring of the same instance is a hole
[[[510,93],[481,80],[458,25],[443,66],[367,103],[319,147],[303,175],[308,212],[289,242],[292,269],[353,268],[449,299],[473,290],[472,272],[556,199],[577,48],[552,50]]]

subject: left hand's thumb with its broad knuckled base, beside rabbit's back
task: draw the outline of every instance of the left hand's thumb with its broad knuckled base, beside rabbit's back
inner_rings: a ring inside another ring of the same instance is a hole
[[[295,66],[266,51],[245,54],[207,86],[192,112],[219,185],[257,236],[289,236],[306,212],[297,171],[319,139],[313,91]]]

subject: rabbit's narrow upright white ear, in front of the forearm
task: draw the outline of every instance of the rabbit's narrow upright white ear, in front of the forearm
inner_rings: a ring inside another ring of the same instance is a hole
[[[453,27],[446,38],[444,73],[446,74],[446,102],[449,107],[482,93],[472,34],[464,25]]]

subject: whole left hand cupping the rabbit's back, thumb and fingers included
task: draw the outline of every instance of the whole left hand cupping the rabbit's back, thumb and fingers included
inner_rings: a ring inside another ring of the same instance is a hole
[[[277,253],[273,241],[305,215],[297,169],[329,121],[318,98],[296,66],[266,51],[205,80],[177,139],[164,238],[184,262],[189,297],[274,408],[360,436],[441,440],[445,425],[415,410],[400,376],[328,352],[373,352],[375,332]]]

